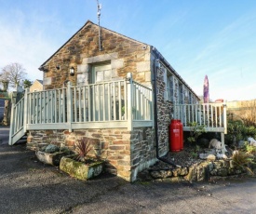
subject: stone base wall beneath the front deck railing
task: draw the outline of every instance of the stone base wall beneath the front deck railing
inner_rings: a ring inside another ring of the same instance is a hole
[[[135,181],[138,172],[155,163],[152,128],[135,128],[133,131],[125,128],[30,131],[27,147],[35,150],[52,143],[74,150],[75,141],[83,137],[90,140],[93,153],[106,160],[107,171],[126,181]]]

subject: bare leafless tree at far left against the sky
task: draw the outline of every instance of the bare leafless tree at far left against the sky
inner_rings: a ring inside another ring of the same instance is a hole
[[[0,80],[8,81],[10,87],[16,87],[26,78],[26,75],[27,73],[23,66],[18,62],[14,62],[2,68]]]

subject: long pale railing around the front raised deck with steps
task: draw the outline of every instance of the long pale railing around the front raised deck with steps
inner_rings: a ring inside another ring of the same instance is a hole
[[[20,130],[152,127],[152,89],[126,80],[25,92],[12,106],[9,143]]]

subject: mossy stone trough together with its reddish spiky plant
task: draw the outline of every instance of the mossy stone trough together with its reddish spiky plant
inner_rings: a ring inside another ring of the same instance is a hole
[[[101,174],[103,161],[98,157],[89,155],[92,146],[88,138],[82,138],[75,143],[74,155],[61,158],[60,169],[72,177],[87,181]]]

